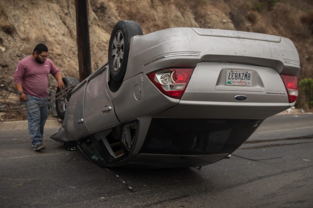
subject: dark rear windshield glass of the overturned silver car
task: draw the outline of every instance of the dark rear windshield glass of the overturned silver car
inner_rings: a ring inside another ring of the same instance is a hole
[[[231,153],[256,130],[254,119],[152,119],[141,153]]]

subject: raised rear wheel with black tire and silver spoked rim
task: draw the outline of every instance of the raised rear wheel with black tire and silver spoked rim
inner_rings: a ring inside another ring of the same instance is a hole
[[[143,35],[143,33],[140,25],[135,21],[118,21],[112,30],[109,42],[108,60],[110,75],[116,82],[123,81],[127,67],[131,37],[136,35]]]

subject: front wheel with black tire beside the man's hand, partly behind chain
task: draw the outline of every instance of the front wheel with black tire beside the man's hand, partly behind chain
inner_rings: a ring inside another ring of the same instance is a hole
[[[71,85],[78,85],[79,84],[79,80],[75,77],[63,77],[62,80],[63,80],[64,85],[65,85],[64,88],[67,88]],[[61,91],[61,89],[58,87],[56,93],[59,93],[60,91]],[[56,107],[57,114],[58,114],[60,119],[64,119],[65,109],[66,109],[66,106],[67,106],[67,103],[68,103],[70,97],[71,97],[71,94],[68,93],[66,98],[55,100],[55,107]]]

